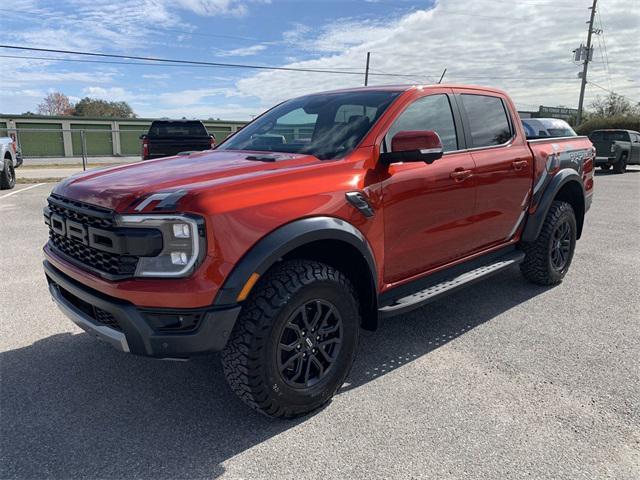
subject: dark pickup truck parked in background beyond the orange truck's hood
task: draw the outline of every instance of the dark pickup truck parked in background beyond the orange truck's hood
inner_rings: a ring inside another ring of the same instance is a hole
[[[140,139],[143,160],[210,150],[216,145],[215,137],[199,120],[156,120]]]

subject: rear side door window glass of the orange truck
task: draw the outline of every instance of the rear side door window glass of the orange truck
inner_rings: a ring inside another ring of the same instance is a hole
[[[461,98],[473,148],[502,145],[509,141],[513,132],[501,98],[470,94],[462,94]]]

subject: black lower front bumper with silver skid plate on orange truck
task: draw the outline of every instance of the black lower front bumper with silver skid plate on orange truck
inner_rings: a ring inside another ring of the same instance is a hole
[[[201,319],[193,330],[157,331],[140,309],[92,290],[71,279],[48,261],[44,270],[49,291],[60,310],[76,325],[123,352],[157,358],[188,358],[224,348],[233,330],[240,306],[210,308],[198,312]],[[159,309],[167,312],[167,309]],[[172,310],[172,314],[193,314],[193,309]]]

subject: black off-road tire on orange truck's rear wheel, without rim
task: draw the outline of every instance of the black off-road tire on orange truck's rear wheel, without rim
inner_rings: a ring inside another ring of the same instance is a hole
[[[569,226],[569,251],[562,268],[556,268],[552,260],[554,234],[565,222]],[[553,202],[538,238],[533,242],[520,244],[520,248],[525,253],[524,261],[520,264],[520,271],[524,277],[538,285],[560,283],[571,266],[576,246],[576,233],[576,217],[571,205],[566,202]]]

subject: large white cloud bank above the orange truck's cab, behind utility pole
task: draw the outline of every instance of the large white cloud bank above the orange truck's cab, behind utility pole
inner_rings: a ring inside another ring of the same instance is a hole
[[[344,19],[324,28],[296,24],[284,34],[286,40],[326,53],[285,66],[364,71],[370,51],[373,75],[369,83],[373,85],[432,83],[447,68],[445,82],[503,88],[521,108],[575,106],[579,68],[571,62],[571,51],[585,40],[589,14],[588,5],[580,3],[540,8],[530,3],[451,0],[441,1],[434,10],[416,10],[379,22]],[[640,27],[640,14],[632,4],[631,0],[609,0],[600,7],[600,14],[606,27],[611,89],[640,100],[640,70],[629,62],[637,50]],[[597,37],[594,42],[597,47]],[[599,61],[598,52],[595,56]],[[604,65],[597,61],[591,65],[589,79],[608,88]],[[237,88],[271,105],[362,82],[363,76],[268,71],[240,80]],[[591,86],[587,104],[602,93]]]

